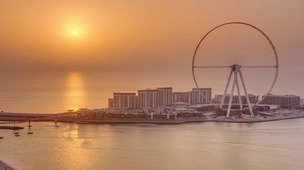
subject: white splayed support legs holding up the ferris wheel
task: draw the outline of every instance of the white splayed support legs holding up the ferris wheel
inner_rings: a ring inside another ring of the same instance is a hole
[[[233,85],[232,85],[232,89],[231,89],[231,95],[230,95],[230,99],[229,99],[229,105],[228,105],[226,117],[229,117],[229,115],[230,115],[232,100],[233,100],[233,93],[234,93],[234,90],[235,90],[235,85],[237,85],[240,109],[243,109],[240,87],[239,87],[239,82],[238,82],[238,74],[240,75],[240,78],[241,78],[241,82],[242,82],[242,86],[243,86],[243,89],[244,89],[246,101],[247,101],[247,104],[248,104],[248,107],[249,107],[250,115],[252,117],[254,117],[252,107],[251,107],[251,103],[250,103],[250,100],[249,100],[249,96],[248,96],[248,93],[247,93],[247,90],[246,90],[245,82],[244,82],[244,79],[243,79],[243,75],[242,75],[242,72],[241,72],[241,68],[240,68],[239,65],[234,65],[231,69],[231,72],[230,72],[230,75],[229,75],[229,78],[228,78],[228,81],[227,81],[227,84],[226,84],[226,87],[225,87],[225,91],[224,91],[223,97],[222,97],[221,102],[220,102],[220,107],[222,108],[222,105],[224,103],[224,99],[226,97],[226,92],[227,92],[227,89],[229,87],[231,76],[232,76],[233,72],[235,73],[234,74],[234,81],[233,81]]]

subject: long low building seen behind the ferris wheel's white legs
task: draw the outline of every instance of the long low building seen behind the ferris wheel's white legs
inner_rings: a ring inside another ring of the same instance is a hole
[[[216,103],[220,103],[221,100],[222,100],[222,98],[223,98],[223,95],[216,94],[215,97],[214,97],[214,101]],[[248,98],[249,98],[250,103],[256,103],[258,101],[259,96],[248,94]],[[230,100],[230,94],[226,94],[223,103],[224,104],[228,104],[229,100]],[[247,104],[247,100],[246,100],[246,96],[245,95],[241,95],[241,101],[242,101],[242,104]],[[232,97],[232,103],[233,104],[240,103],[238,95],[233,95],[233,97]]]

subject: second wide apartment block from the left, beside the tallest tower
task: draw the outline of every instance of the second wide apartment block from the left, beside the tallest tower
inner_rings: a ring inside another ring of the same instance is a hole
[[[160,106],[160,91],[158,89],[138,90],[138,107]]]

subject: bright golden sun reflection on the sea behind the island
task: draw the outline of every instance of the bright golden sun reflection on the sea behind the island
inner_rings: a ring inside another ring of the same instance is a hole
[[[68,74],[65,98],[66,109],[77,110],[87,105],[86,87],[81,73],[71,72]]]

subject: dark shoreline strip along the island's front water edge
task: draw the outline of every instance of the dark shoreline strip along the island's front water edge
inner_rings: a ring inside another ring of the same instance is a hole
[[[177,120],[98,120],[98,119],[85,119],[79,122],[80,120],[61,120],[57,118],[58,122],[62,123],[74,123],[74,124],[182,124],[182,123],[192,123],[192,122],[226,122],[226,123],[258,123],[258,122],[270,122],[270,121],[280,121],[287,119],[296,119],[304,118],[303,115],[293,115],[293,116],[280,116],[280,117],[269,117],[269,118],[255,118],[255,119],[231,119],[231,118],[209,118],[209,119],[200,119],[200,118],[189,118],[189,119],[177,119]],[[20,119],[12,118],[1,118],[0,121],[16,122],[22,121]],[[53,122],[51,120],[44,121],[33,121],[33,122]]]

